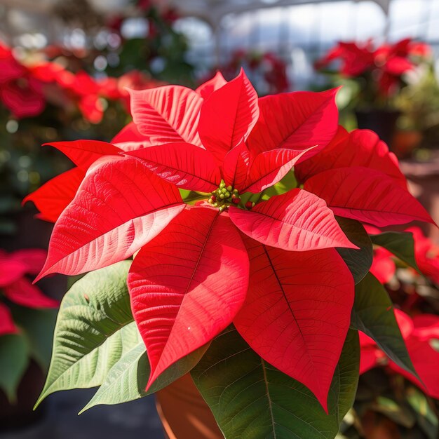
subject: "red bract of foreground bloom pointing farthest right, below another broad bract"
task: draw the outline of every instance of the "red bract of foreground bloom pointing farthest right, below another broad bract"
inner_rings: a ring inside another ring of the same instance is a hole
[[[306,180],[316,194],[341,217],[385,227],[411,221],[433,222],[428,212],[395,180],[377,170],[353,167],[326,170]]]

